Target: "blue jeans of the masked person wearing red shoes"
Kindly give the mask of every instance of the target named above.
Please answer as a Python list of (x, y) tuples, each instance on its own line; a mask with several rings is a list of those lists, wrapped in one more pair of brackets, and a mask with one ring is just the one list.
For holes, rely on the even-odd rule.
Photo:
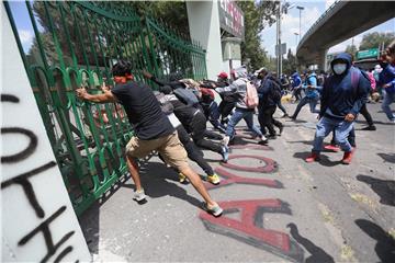
[(341, 150), (351, 151), (352, 148), (347, 137), (349, 136), (352, 128), (353, 122), (321, 117), (317, 124), (313, 144), (313, 152), (319, 153), (321, 151), (325, 137), (327, 137), (332, 130), (335, 130), (335, 138)]

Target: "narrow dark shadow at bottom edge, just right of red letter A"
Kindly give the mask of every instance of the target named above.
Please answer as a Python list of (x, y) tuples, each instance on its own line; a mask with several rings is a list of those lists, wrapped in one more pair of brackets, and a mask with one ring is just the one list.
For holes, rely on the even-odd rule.
[(325, 252), (321, 248), (317, 247), (315, 243), (313, 243), (309, 239), (304, 238), (300, 235), (297, 226), (293, 222), (286, 225), (287, 228), (290, 228), (290, 233), (292, 238), (294, 238), (301, 245), (303, 245), (308, 253), (311, 253), (311, 256), (308, 256), (305, 260), (305, 263), (330, 263), (335, 262), (334, 258)]

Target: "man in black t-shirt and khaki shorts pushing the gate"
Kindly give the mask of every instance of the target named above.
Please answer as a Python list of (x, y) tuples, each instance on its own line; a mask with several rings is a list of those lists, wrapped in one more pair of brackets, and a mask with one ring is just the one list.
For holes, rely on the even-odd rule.
[(78, 89), (77, 96), (93, 103), (119, 102), (126, 112), (128, 121), (135, 130), (135, 136), (126, 145), (126, 162), (136, 186), (134, 199), (143, 202), (146, 198), (134, 158), (144, 158), (151, 151), (158, 151), (165, 161), (182, 172), (205, 201), (204, 208), (214, 216), (221, 216), (223, 209), (214, 202), (204, 187), (200, 176), (189, 167), (185, 149), (167, 116), (160, 110), (159, 102), (151, 89), (139, 82), (127, 81), (131, 75), (131, 64), (119, 61), (112, 69), (115, 87), (103, 90), (102, 94), (89, 94), (84, 89)]

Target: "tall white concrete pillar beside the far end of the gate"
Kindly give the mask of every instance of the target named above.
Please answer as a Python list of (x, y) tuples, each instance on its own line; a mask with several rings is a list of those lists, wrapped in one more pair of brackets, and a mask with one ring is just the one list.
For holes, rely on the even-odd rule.
[(219, 14), (217, 1), (187, 1), (191, 38), (206, 49), (208, 79), (224, 70), (221, 46)]

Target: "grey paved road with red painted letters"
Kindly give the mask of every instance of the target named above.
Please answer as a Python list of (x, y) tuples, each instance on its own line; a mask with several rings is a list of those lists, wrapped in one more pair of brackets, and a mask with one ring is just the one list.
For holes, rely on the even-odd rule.
[[(142, 169), (147, 204), (132, 201), (134, 185), (127, 180), (80, 218), (93, 259), (395, 262), (395, 125), (380, 104), (368, 108), (377, 130), (357, 130), (350, 165), (339, 163), (340, 152), (324, 152), (320, 163), (303, 161), (317, 122), (307, 106), (298, 121), (282, 119), (284, 134), (270, 148), (252, 149), (248, 144), (253, 140), (238, 138), (244, 146), (233, 150), (229, 161), (237, 167), (224, 168), (218, 155), (205, 151), (222, 169), (223, 186), (210, 190), (226, 207), (217, 219), (202, 213), (191, 185), (178, 183), (177, 174), (153, 157)], [(364, 125), (360, 119), (357, 129)], [(238, 135), (246, 135), (244, 125)], [(259, 169), (246, 171), (250, 168)]]

